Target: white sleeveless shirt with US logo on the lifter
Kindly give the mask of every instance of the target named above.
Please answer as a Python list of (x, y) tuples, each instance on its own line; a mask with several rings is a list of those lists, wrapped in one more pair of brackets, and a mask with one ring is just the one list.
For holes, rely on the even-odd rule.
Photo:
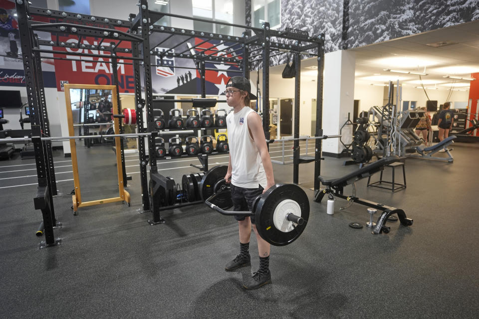
[(240, 112), (231, 112), (226, 117), (233, 168), (231, 183), (244, 188), (257, 188), (259, 184), (264, 188), (266, 174), (256, 144), (248, 130), (248, 115), (251, 112), (254, 111), (245, 106)]

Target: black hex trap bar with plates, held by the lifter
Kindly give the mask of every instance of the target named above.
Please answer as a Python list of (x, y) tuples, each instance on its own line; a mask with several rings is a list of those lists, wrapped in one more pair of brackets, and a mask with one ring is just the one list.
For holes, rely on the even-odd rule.
[(205, 204), (223, 215), (254, 215), (259, 236), (274, 246), (291, 244), (301, 235), (309, 218), (304, 190), (295, 184), (275, 184), (253, 200), (251, 211), (226, 210), (233, 206), (227, 170), (228, 166), (215, 166), (203, 176), (200, 189)]

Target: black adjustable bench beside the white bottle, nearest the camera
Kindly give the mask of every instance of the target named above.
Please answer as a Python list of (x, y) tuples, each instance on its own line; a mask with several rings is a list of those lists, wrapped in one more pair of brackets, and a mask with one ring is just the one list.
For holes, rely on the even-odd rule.
[(347, 175), (344, 175), (339, 178), (335, 179), (324, 179), (323, 176), (318, 176), (318, 179), (321, 183), (326, 186), (326, 188), (319, 189), (318, 192), (315, 194), (314, 200), (316, 202), (321, 202), (324, 195), (332, 194), (334, 197), (339, 197), (348, 200), (349, 202), (355, 202), (364, 206), (376, 208), (377, 210), (382, 211), (383, 213), (379, 216), (376, 226), (374, 227), (372, 233), (373, 234), (380, 234), (383, 231), (385, 233), (389, 233), (390, 227), (386, 227), (386, 221), (388, 217), (392, 214), (397, 214), (399, 217), (399, 221), (403, 226), (410, 226), (413, 224), (413, 220), (406, 217), (406, 213), (404, 210), (386, 206), (384, 204), (376, 203), (367, 199), (359, 198), (354, 195), (346, 196), (344, 195), (344, 186), (349, 184), (354, 184), (356, 181), (369, 177), (372, 174), (381, 171), (384, 169), (384, 166), (389, 165), (396, 161), (404, 160), (404, 158), (400, 158), (397, 156), (391, 156), (387, 158), (382, 158), (381, 160), (377, 160), (368, 164), (367, 166), (363, 166)]

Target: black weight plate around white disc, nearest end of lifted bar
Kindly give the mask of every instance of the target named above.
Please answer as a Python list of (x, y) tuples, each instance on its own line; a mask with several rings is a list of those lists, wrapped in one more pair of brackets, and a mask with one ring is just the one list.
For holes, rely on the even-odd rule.
[[(296, 225), (289, 232), (282, 232), (274, 226), (274, 210), (278, 204), (288, 199), (298, 203), (304, 223)], [(304, 190), (295, 184), (276, 184), (261, 195), (254, 213), (258, 234), (271, 245), (285, 246), (295, 241), (306, 228), (309, 219), (309, 199)]]

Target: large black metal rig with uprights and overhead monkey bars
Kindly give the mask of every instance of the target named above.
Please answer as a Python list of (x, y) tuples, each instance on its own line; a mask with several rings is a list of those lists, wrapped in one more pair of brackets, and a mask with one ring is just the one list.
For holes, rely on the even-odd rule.
[[(317, 77), (317, 112), (316, 112), (316, 133), (315, 137), (322, 135), (322, 90), (323, 90), (323, 67), (324, 67), (324, 34), (309, 37), (307, 32), (295, 29), (286, 29), (285, 31), (272, 30), (269, 23), (264, 23), (261, 28), (251, 26), (226, 23), (220, 21), (211, 21), (206, 19), (192, 18), (171, 13), (163, 13), (149, 10), (147, 0), (139, 0), (138, 14), (130, 14), (128, 20), (112, 19), (93, 15), (76, 14), (59, 10), (50, 10), (46, 8), (33, 7), (28, 1), (16, 0), (17, 18), (20, 30), (21, 54), (24, 63), (25, 83), (28, 95), (28, 104), (30, 106), (30, 118), (32, 127), (32, 142), (35, 150), (38, 193), (34, 198), (35, 209), (41, 209), (44, 227), (46, 246), (52, 246), (57, 243), (53, 236), (53, 227), (56, 225), (54, 216), (52, 195), (56, 194), (56, 183), (53, 167), (53, 157), (51, 155), (51, 142), (41, 140), (43, 137), (49, 137), (49, 123), (46, 110), (45, 94), (43, 89), (41, 58), (40, 53), (66, 54), (64, 51), (55, 50), (55, 47), (83, 48), (90, 51), (98, 51), (98, 54), (82, 52), (68, 52), (68, 55), (77, 55), (80, 57), (101, 57), (107, 59), (105, 63), (113, 65), (114, 85), (118, 86), (118, 76), (116, 74), (117, 65), (132, 64), (135, 81), (135, 104), (137, 114), (138, 134), (150, 133), (148, 135), (148, 157), (146, 156), (146, 146), (143, 138), (138, 140), (138, 153), (140, 161), (140, 179), (142, 193), (143, 211), (158, 211), (150, 207), (147, 165), (151, 170), (156, 168), (156, 157), (154, 152), (154, 135), (156, 133), (153, 121), (153, 89), (151, 67), (152, 57), (159, 56), (160, 59), (166, 56), (175, 58), (193, 59), (200, 73), (201, 96), (206, 97), (206, 71), (205, 63), (212, 61), (221, 61), (231, 65), (236, 65), (242, 75), (249, 78), (250, 62), (261, 61), (262, 64), (262, 105), (263, 105), (263, 130), (266, 139), (269, 139), (269, 63), (270, 52), (280, 52), (283, 54), (291, 52), (295, 56), (296, 77), (295, 77), (295, 121), (294, 121), (294, 183), (298, 182), (299, 166), (299, 89), (300, 89), (300, 61), (301, 54), (317, 56), (318, 77)], [(163, 16), (179, 17), (190, 20), (209, 22), (214, 24), (223, 24), (234, 27), (244, 28), (242, 36), (231, 36), (227, 34), (202, 32), (184, 28), (167, 27), (156, 25)], [(44, 19), (53, 22), (44, 22)], [(118, 29), (128, 28), (126, 31)], [(51, 40), (41, 40), (34, 31), (49, 32)], [(173, 53), (172, 49), (165, 52), (158, 52), (155, 46), (150, 45), (150, 35), (154, 32), (164, 33), (168, 38), (181, 36), (177, 43), (187, 42), (193, 37), (199, 37), (203, 43), (209, 40), (217, 40), (219, 44), (208, 47), (198, 54), (186, 52)], [(252, 35), (252, 32), (255, 34)], [(75, 35), (78, 37), (76, 42), (61, 42), (60, 35)], [(97, 45), (81, 43), (84, 37), (95, 37), (101, 39)], [(187, 37), (185, 39), (185, 37)], [(275, 39), (273, 41), (272, 39)], [(104, 41), (106, 41), (105, 44)], [(291, 43), (292, 41), (292, 43)], [(109, 42), (109, 43), (108, 43)], [(120, 48), (120, 42), (129, 42), (130, 48)], [(180, 43), (180, 44), (181, 44)], [(205, 53), (212, 51), (222, 43), (228, 43), (224, 49), (217, 49), (214, 53)], [(303, 44), (304, 43), (304, 44)], [(161, 43), (160, 43), (161, 44)], [(240, 45), (242, 50), (233, 49)], [(40, 47), (41, 46), (41, 47)], [(45, 49), (44, 47), (51, 47)], [(261, 51), (260, 53), (250, 54), (250, 51)], [(101, 52), (103, 53), (101, 53)], [(310, 53), (315, 51), (315, 53)], [(222, 52), (221, 55), (218, 53)], [(186, 55), (185, 55), (186, 53)], [(217, 56), (214, 56), (216, 54)], [(277, 55), (274, 54), (274, 55)], [(228, 57), (228, 55), (232, 55)], [(250, 58), (259, 57), (260, 59), (250, 61)], [(53, 59), (65, 59), (61, 57), (45, 57)], [(131, 61), (119, 62), (119, 60)], [(144, 89), (141, 87), (141, 76), (143, 73)], [(259, 76), (259, 74), (258, 74)], [(117, 90), (118, 91), (118, 90)], [(120, 107), (120, 106), (119, 106)], [(146, 127), (143, 120), (143, 108), (146, 111)], [(320, 174), (320, 150), (321, 139), (316, 139), (315, 145), (315, 176)], [(124, 162), (124, 155), (122, 154)], [(124, 178), (125, 181), (125, 178)], [(314, 188), (319, 188), (319, 182), (315, 180)], [(154, 213), (153, 221), (162, 221), (159, 214)]]

